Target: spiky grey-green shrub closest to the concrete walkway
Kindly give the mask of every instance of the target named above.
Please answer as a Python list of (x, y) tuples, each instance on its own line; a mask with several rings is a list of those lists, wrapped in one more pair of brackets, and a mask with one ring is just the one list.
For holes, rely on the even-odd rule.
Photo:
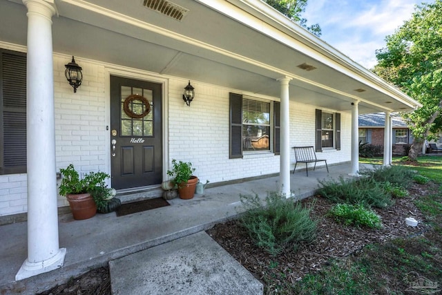
[(242, 195), (247, 209), (241, 218), (242, 226), (258, 247), (271, 255), (285, 248), (297, 249), (300, 242), (313, 242), (316, 238), (316, 220), (310, 218), (309, 208), (300, 202), (286, 199), (278, 193), (269, 193), (262, 202), (258, 195)]

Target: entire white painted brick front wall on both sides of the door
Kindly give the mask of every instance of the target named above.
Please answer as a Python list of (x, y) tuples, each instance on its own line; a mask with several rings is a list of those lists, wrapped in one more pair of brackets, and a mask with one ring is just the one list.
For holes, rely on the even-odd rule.
[[(110, 173), (107, 151), (110, 148), (109, 131), (106, 131), (110, 120), (106, 71), (106, 66), (109, 65), (81, 57), (75, 59), (84, 73), (77, 93), (73, 92), (64, 77), (64, 64), (70, 61), (70, 57), (54, 55), (57, 170), (73, 163), (80, 173)], [(140, 79), (148, 79), (146, 75), (153, 75), (140, 70), (126, 70), (128, 73), (133, 71), (136, 73), (134, 76)], [(162, 79), (167, 79), (169, 86), (164, 94), (164, 105), (167, 107), (164, 120), (166, 126), (169, 126), (164, 135), (164, 155), (169, 154), (169, 163), (172, 159), (192, 162), (196, 168), (195, 174), (202, 182), (222, 182), (278, 173), (280, 157), (273, 153), (244, 153), (242, 159), (229, 159), (229, 92), (241, 91), (192, 81), (196, 97), (189, 107), (182, 100), (182, 91), (187, 80), (173, 77)], [(242, 94), (253, 97), (251, 93)], [(290, 126), (290, 146), (314, 145), (315, 107), (291, 101)], [(349, 161), (350, 128), (351, 114), (341, 113), (341, 150), (325, 150), (320, 158), (327, 159), (330, 164)], [(293, 151), (290, 157), (293, 163)], [(292, 169), (293, 166), (294, 164)], [(164, 167), (165, 179), (168, 168)], [(0, 216), (26, 212), (26, 202), (26, 174), (0, 175)], [(58, 206), (68, 204), (66, 198), (60, 196), (57, 203)]]

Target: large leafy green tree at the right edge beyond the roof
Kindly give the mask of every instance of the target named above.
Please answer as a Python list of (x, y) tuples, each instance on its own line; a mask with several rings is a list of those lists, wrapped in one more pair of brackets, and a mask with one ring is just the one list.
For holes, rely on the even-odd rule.
[(412, 18), (387, 47), (376, 50), (374, 72), (423, 106), (403, 118), (414, 137), (408, 157), (416, 161), (425, 140), (442, 130), (442, 0), (416, 6)]

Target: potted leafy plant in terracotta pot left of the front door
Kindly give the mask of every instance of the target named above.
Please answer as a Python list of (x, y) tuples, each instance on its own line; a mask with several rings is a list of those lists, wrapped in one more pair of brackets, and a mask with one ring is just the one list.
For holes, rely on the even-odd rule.
[(104, 172), (90, 172), (80, 178), (74, 165), (60, 169), (63, 176), (59, 187), (61, 196), (66, 196), (75, 220), (84, 220), (95, 216), (97, 204), (90, 192), (97, 187), (107, 189), (104, 180), (109, 177)]

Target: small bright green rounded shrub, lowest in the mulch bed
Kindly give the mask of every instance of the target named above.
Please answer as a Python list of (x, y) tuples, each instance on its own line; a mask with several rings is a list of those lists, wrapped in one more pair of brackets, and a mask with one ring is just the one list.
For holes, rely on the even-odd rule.
[(336, 220), (345, 225), (356, 225), (370, 228), (380, 228), (382, 225), (379, 217), (372, 209), (365, 208), (362, 204), (336, 204), (329, 211)]

